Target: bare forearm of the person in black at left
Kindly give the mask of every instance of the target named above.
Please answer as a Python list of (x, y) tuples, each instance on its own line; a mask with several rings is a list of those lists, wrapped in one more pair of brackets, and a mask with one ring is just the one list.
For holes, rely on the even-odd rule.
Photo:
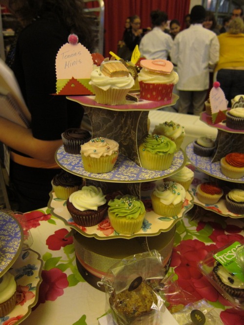
[(55, 152), (62, 140), (42, 141), (32, 136), (32, 130), (0, 117), (0, 142), (32, 158), (55, 163)]

